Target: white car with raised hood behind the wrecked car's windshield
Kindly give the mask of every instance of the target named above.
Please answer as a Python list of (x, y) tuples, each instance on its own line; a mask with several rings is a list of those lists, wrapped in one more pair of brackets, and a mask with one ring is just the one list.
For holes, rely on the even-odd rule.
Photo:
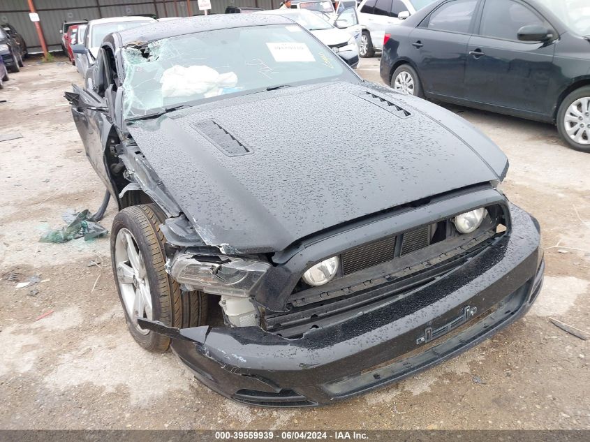
[[(305, 9), (261, 10), (255, 14), (282, 15), (283, 17), (290, 18), (310, 31), (311, 34), (314, 34), (327, 47), (330, 47), (332, 52), (338, 54), (341, 59), (346, 61), (348, 66), (351, 66), (353, 69), (357, 67), (359, 58), (355, 37), (343, 29), (332, 26), (332, 24), (324, 20), (320, 15)], [(344, 22), (341, 22), (341, 24), (344, 25)], [(300, 28), (297, 27), (297, 29)], [(360, 34), (360, 28), (357, 30), (357, 34)]]

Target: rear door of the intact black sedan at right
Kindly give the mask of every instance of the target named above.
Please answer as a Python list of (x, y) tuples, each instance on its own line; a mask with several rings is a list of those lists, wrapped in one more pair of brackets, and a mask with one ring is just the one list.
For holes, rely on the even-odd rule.
[(411, 32), (411, 59), (428, 96), (464, 96), (467, 45), (479, 3), (480, 0), (446, 1)]

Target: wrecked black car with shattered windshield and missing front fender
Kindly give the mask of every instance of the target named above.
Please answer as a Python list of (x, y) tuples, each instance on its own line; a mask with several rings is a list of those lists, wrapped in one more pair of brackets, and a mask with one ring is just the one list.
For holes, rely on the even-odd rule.
[(499, 148), (284, 17), (110, 34), (91, 75), (66, 97), (120, 210), (128, 329), (221, 395), (346, 399), (480, 343), (540, 290), (539, 226), (503, 194)]

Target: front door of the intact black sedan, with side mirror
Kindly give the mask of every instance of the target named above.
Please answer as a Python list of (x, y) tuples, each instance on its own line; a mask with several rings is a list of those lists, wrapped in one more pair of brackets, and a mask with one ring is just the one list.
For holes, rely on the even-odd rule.
[[(469, 101), (524, 112), (550, 112), (554, 103), (547, 103), (547, 88), (555, 75), (556, 40), (519, 41), (519, 29), (531, 24), (552, 28), (526, 3), (485, 0), (478, 32), (469, 40)], [(553, 35), (557, 37), (556, 31)]]

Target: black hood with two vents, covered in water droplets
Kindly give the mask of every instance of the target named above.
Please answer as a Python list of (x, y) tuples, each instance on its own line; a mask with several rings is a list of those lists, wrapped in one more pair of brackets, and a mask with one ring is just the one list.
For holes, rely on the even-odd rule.
[(450, 112), (347, 82), (228, 98), (128, 130), (202, 239), (236, 253), (281, 251), (506, 167)]

